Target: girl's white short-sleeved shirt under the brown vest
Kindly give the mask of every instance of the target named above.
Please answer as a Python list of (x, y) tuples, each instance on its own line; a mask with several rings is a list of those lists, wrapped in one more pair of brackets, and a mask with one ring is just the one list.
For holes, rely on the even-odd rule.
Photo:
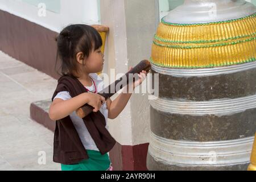
[[(97, 73), (90, 73), (89, 76), (93, 79), (96, 87), (97, 87), (97, 93), (104, 89), (104, 81), (97, 75)], [(92, 84), (92, 86), (85, 86), (86, 89), (88, 89), (90, 92), (95, 92), (95, 86)], [(64, 101), (71, 99), (71, 95), (69, 92), (59, 92), (57, 93), (56, 98), (60, 98)], [(106, 119), (106, 129), (108, 130), (108, 109), (106, 107), (106, 102), (101, 106), (100, 112), (104, 115)], [(69, 115), (71, 118), (71, 121), (73, 122), (73, 125), (76, 128), (77, 133), (79, 134), (79, 137), (82, 141), (82, 144), (86, 148), (86, 150), (96, 150), (100, 151), (94, 140), (89, 134), (88, 129), (86, 128), (84, 121), (76, 114), (76, 111), (74, 111), (72, 114)]]

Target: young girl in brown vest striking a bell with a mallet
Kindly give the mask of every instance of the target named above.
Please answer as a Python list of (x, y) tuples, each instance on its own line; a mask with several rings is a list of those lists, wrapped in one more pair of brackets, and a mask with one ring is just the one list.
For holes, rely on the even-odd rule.
[[(131, 93), (121, 93), (114, 101), (105, 101), (104, 97), (97, 94), (104, 89), (103, 81), (97, 75), (104, 65), (101, 46), (100, 34), (85, 24), (66, 27), (57, 38), (57, 60), (60, 58), (62, 77), (53, 94), (49, 117), (57, 121), (53, 161), (61, 163), (63, 171), (112, 169), (108, 152), (115, 140), (104, 130), (108, 130), (108, 118), (116, 118), (125, 108)], [(141, 72), (139, 80), (130, 86), (135, 89), (146, 75), (145, 71)], [(129, 90), (127, 87), (124, 89)], [(76, 110), (85, 104), (94, 107), (94, 110), (88, 117), (81, 119)], [(100, 128), (102, 123), (104, 129)], [(108, 147), (111, 140), (114, 143)], [(102, 144), (102, 141), (105, 143)]]

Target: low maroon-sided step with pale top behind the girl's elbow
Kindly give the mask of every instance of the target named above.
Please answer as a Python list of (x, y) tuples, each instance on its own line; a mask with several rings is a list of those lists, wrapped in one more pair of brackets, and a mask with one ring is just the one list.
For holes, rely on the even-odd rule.
[(32, 102), (30, 105), (30, 117), (51, 131), (55, 131), (56, 122), (49, 118), (48, 111), (52, 101), (43, 100)]

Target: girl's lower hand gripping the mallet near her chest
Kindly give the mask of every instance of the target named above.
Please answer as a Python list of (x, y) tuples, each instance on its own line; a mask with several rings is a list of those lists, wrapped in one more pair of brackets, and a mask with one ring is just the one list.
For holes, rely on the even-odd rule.
[(102, 104), (105, 103), (105, 98), (96, 93), (85, 93), (88, 96), (87, 104), (94, 107), (93, 112), (101, 109)]

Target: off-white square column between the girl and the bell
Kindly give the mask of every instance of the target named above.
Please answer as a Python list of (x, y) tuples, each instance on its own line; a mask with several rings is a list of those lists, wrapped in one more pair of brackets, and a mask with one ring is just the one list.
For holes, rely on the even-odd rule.
[[(159, 23), (158, 0), (101, 0), (101, 23), (109, 26), (106, 42), (106, 70), (126, 73), (143, 59), (149, 59)], [(145, 94), (133, 94), (125, 110), (109, 130), (118, 143), (136, 145), (149, 142), (150, 111)]]

